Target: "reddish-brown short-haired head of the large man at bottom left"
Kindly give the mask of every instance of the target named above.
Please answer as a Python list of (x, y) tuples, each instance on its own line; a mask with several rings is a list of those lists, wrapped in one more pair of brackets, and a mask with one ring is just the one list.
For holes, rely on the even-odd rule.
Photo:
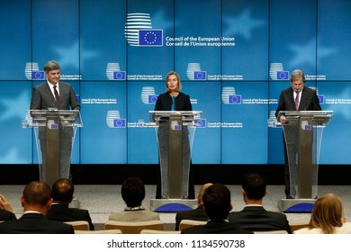
[(51, 191), (48, 184), (41, 181), (32, 181), (24, 187), (21, 197), (24, 211), (39, 211), (46, 215), (51, 202)]

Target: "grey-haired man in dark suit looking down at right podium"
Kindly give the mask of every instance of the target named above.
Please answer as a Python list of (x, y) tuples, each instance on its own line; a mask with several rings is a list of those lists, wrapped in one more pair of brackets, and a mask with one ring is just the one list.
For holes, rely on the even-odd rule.
[[(305, 86), (306, 77), (302, 70), (293, 70), (290, 76), (292, 86), (284, 89), (279, 97), (278, 107), (275, 111), (277, 121), (285, 123), (286, 118), (282, 111), (321, 111), (320, 100), (315, 90)], [(294, 157), (291, 157), (294, 159)], [(293, 199), (296, 193), (295, 182), (291, 181), (289, 172), (288, 153), (284, 139), (284, 181), (285, 181), (285, 195), (287, 199)], [(294, 177), (294, 175), (293, 175)], [(291, 188), (292, 187), (292, 188)]]

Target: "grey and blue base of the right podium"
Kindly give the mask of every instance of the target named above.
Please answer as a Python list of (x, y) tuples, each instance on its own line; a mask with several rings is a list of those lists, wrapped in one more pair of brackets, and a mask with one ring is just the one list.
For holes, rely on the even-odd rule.
[(278, 201), (278, 208), (283, 212), (311, 212), (315, 199), (282, 199)]

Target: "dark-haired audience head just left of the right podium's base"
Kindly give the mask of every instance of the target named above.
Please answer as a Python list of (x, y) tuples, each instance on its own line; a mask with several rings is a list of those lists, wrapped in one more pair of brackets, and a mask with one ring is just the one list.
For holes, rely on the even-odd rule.
[(242, 193), (245, 202), (262, 202), (267, 193), (265, 177), (258, 173), (246, 175), (242, 182)]

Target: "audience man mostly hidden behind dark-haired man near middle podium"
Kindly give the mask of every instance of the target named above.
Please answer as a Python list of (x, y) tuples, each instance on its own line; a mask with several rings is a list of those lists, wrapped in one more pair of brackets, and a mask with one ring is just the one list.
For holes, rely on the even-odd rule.
[(189, 211), (178, 211), (175, 214), (175, 230), (179, 230), (179, 224), (182, 220), (209, 220), (206, 213), (203, 211), (202, 195), (210, 185), (212, 184), (202, 184), (200, 192), (196, 195), (196, 199), (199, 204), (196, 209)]

